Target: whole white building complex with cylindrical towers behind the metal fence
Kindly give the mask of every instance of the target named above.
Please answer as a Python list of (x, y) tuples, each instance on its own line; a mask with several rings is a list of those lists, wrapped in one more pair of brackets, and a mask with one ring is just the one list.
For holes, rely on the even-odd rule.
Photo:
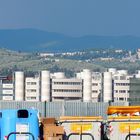
[(130, 79), (134, 77), (139, 79), (140, 71), (129, 75), (126, 70), (114, 68), (103, 73), (84, 69), (71, 78), (63, 72), (44, 70), (34, 77), (26, 77), (23, 71), (16, 71), (10, 82), (1, 79), (0, 97), (4, 101), (127, 102)]

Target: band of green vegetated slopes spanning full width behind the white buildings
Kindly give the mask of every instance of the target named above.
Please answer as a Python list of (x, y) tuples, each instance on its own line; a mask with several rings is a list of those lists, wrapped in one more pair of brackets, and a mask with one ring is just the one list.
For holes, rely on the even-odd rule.
[(28, 75), (33, 75), (41, 70), (50, 70), (51, 72), (65, 72), (68, 77), (71, 77), (74, 76), (75, 72), (82, 71), (83, 69), (103, 72), (111, 67), (127, 69), (129, 73), (133, 73), (136, 70), (140, 70), (140, 61), (133, 63), (130, 61), (120, 61), (119, 59), (108, 61), (95, 59), (92, 62), (86, 62), (60, 56), (42, 58), (37, 53), (21, 53), (0, 49), (1, 75), (10, 75), (18, 70), (22, 70)]

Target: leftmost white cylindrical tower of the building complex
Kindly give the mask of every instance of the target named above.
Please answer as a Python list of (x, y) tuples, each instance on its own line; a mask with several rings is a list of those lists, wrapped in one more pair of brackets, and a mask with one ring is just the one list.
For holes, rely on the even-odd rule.
[(24, 72), (15, 72), (15, 100), (24, 100)]

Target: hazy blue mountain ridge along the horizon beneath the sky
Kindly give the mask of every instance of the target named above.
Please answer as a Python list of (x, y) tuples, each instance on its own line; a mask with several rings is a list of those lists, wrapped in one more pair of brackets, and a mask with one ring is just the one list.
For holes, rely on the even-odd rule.
[(0, 30), (0, 47), (22, 52), (66, 52), (91, 48), (116, 48), (132, 50), (140, 47), (140, 37), (134, 36), (83, 36), (36, 29)]

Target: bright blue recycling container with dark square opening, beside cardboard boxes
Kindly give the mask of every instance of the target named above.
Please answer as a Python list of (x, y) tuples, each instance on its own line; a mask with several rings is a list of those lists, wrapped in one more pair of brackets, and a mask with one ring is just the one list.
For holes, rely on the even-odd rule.
[[(37, 140), (39, 137), (39, 121), (37, 110), (8, 109), (1, 110), (0, 140)], [(19, 134), (22, 133), (22, 134)], [(9, 136), (8, 136), (9, 135)]]

